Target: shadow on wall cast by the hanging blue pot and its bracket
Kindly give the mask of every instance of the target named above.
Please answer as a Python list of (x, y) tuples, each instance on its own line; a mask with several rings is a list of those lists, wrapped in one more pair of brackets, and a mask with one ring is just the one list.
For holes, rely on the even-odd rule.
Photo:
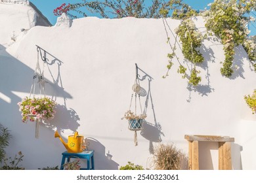
[(150, 101), (153, 115), (154, 115), (154, 124), (145, 120), (143, 122), (142, 130), (140, 131), (140, 135), (142, 135), (142, 137), (144, 137), (145, 139), (147, 139), (149, 141), (149, 152), (150, 152), (150, 154), (154, 154), (153, 142), (161, 142), (161, 135), (164, 135), (164, 134), (163, 134), (163, 132), (161, 132), (160, 123), (158, 123), (156, 120), (156, 112), (154, 109), (154, 103), (153, 103), (152, 94), (151, 94), (151, 90), (150, 90), (151, 89), (150, 83), (152, 82), (153, 78), (150, 75), (148, 75), (147, 73), (145, 73), (144, 71), (142, 71), (142, 69), (140, 69), (139, 67), (138, 67), (138, 70), (140, 71), (140, 73), (139, 73), (140, 81), (146, 80), (146, 78), (148, 78), (148, 92), (146, 92), (146, 90), (144, 90), (144, 88), (140, 89), (140, 92), (139, 92), (139, 93), (143, 93), (143, 95), (142, 95), (143, 97), (146, 96), (146, 102), (145, 102), (143, 114), (146, 114), (147, 109), (148, 109), (148, 102)]

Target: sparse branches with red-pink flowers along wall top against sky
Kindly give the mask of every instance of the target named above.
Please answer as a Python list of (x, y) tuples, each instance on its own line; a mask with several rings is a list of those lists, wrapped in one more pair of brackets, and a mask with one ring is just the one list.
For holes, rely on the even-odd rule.
[(98, 14), (102, 18), (161, 18), (169, 16), (169, 2), (152, 0), (149, 7), (144, 5), (145, 0), (105, 0), (86, 1), (68, 5), (65, 10), (71, 18), (77, 18), (72, 12), (88, 16), (89, 13)]

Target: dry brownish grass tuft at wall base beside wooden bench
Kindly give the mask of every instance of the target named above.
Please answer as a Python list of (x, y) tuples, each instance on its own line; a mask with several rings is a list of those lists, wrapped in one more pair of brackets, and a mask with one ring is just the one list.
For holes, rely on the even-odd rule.
[(154, 148), (154, 169), (179, 170), (181, 169), (182, 152), (174, 144), (158, 144)]

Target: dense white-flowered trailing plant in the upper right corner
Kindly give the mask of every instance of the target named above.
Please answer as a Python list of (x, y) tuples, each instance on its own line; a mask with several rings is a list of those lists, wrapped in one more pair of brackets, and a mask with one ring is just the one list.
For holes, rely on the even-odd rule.
[(247, 52), (249, 61), (256, 71), (255, 44), (248, 39), (249, 29), (247, 24), (255, 21), (250, 16), (245, 16), (251, 10), (255, 10), (255, 0), (215, 0), (211, 8), (203, 13), (205, 17), (205, 27), (212, 31), (221, 39), (224, 45), (224, 62), (221, 68), (221, 74), (229, 77), (234, 73), (234, 48), (242, 44)]

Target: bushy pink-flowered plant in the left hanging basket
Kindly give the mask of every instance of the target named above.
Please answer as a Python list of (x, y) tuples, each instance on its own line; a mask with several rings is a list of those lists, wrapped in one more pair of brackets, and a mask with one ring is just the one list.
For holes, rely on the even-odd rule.
[(22, 122), (26, 122), (29, 118), (33, 122), (35, 119), (49, 120), (54, 118), (56, 111), (56, 102), (49, 97), (30, 99), (25, 97), (18, 103), (20, 111), (22, 112)]

